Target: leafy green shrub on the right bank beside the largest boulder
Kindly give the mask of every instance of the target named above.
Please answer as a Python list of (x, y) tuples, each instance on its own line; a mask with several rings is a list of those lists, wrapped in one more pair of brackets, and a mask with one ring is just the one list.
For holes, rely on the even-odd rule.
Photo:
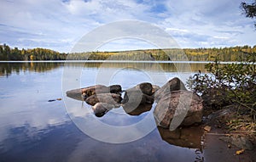
[(256, 112), (256, 53), (245, 53), (241, 63), (220, 64), (218, 57), (201, 71), (189, 77), (189, 89), (201, 94), (206, 107), (222, 109), (228, 104), (247, 108), (243, 112)]

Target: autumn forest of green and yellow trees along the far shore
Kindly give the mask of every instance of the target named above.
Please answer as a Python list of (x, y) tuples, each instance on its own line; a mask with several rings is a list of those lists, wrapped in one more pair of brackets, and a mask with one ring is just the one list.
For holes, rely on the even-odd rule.
[(0, 60), (161, 60), (161, 61), (243, 61), (247, 54), (256, 53), (256, 45), (236, 47), (145, 49), (119, 52), (59, 53), (45, 48), (19, 49), (0, 45)]

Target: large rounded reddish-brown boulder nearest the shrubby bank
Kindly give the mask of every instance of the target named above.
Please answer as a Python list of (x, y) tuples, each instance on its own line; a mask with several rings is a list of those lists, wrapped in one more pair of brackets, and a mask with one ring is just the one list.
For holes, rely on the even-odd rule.
[[(160, 90), (159, 90), (160, 91)], [(189, 91), (174, 91), (162, 97), (154, 109), (154, 119), (158, 126), (168, 128), (172, 121), (171, 130), (177, 126), (190, 126), (201, 122), (202, 100)]]

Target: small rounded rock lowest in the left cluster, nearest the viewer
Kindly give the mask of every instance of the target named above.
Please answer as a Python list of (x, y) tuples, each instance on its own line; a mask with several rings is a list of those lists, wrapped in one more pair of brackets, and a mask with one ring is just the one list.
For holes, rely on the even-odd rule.
[(92, 106), (92, 110), (94, 114), (97, 117), (102, 117), (105, 115), (110, 109), (113, 109), (115, 107), (114, 104), (108, 104), (108, 103), (96, 103), (94, 106)]

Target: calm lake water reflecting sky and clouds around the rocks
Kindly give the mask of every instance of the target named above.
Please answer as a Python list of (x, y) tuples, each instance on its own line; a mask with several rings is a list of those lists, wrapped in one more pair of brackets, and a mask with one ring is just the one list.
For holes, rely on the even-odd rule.
[[(63, 75), (65, 68), (81, 70), (79, 77), (73, 73), (68, 74), (68, 81), (78, 82), (72, 87), (107, 83), (119, 84), (126, 89), (143, 81), (162, 86), (174, 76), (182, 77), (185, 81), (191, 71), (193, 73), (204, 68), (204, 64), (194, 63), (189, 70), (187, 65), (69, 63), (67, 67), (64, 63), (0, 63), (0, 161), (201, 159), (201, 134), (197, 128), (173, 134), (155, 126), (145, 137), (125, 143), (101, 142), (88, 136), (79, 126), (87, 128), (84, 121), (92, 116), (90, 107), (81, 101), (66, 98), (65, 91), (69, 87), (62, 87), (65, 86), (67, 77)], [(48, 102), (56, 98), (62, 100)], [(70, 107), (70, 103), (73, 106)], [(130, 126), (143, 120), (148, 114), (150, 118), (153, 110), (154, 106), (141, 115), (128, 115), (124, 109), (114, 109), (96, 120), (109, 126)], [(148, 123), (150, 124), (152, 125)], [(90, 125), (90, 129), (99, 128)], [(129, 133), (131, 132), (127, 132)], [(180, 133), (185, 138), (177, 137)]]

